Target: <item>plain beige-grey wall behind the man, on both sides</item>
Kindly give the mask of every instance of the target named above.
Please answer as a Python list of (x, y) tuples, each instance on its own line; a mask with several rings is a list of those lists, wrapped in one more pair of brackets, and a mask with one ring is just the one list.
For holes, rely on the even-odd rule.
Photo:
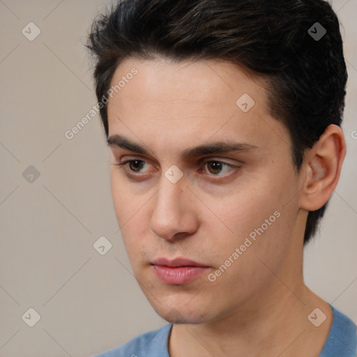
[[(96, 105), (82, 43), (103, 3), (0, 0), (3, 357), (91, 356), (166, 324), (137, 286), (121, 243), (98, 115), (65, 137)], [(305, 279), (357, 322), (357, 1), (333, 8), (349, 70), (348, 153), (321, 233), (305, 250)], [(22, 34), (35, 33), (29, 22), (41, 31), (32, 41)], [(93, 248), (100, 236), (112, 243), (105, 255)], [(33, 327), (25, 323), (35, 319), (30, 307), (40, 314)]]

